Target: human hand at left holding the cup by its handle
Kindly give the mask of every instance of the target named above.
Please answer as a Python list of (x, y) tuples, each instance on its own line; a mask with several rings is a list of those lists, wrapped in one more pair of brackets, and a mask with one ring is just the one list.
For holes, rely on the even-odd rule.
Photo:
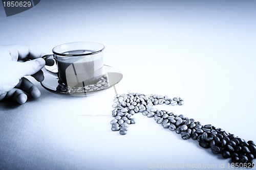
[[(44, 60), (44, 53), (26, 45), (0, 45), (0, 101), (11, 99), (19, 104), (41, 95), (38, 87), (24, 76), (32, 76), (38, 82), (44, 80), (42, 67), (53, 65), (53, 60)], [(26, 92), (26, 93), (25, 93)]]

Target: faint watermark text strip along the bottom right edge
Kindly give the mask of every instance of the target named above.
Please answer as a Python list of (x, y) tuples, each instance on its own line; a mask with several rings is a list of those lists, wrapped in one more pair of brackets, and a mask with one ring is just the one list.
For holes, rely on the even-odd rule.
[(150, 169), (164, 169), (164, 168), (191, 168), (191, 169), (223, 169), (223, 168), (253, 168), (255, 163), (220, 163), (220, 164), (199, 164), (199, 163), (148, 163), (148, 168)]

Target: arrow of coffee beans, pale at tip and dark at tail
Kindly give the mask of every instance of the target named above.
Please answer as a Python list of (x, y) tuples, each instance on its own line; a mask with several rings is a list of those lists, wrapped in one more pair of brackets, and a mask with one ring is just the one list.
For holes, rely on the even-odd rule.
[(125, 135), (129, 125), (136, 123), (133, 115), (141, 112), (147, 117), (154, 117), (157, 124), (161, 124), (163, 128), (181, 134), (182, 139), (191, 137), (193, 140), (198, 140), (201, 147), (210, 148), (212, 153), (222, 154), (223, 158), (231, 157), (233, 163), (242, 163), (243, 167), (248, 167), (250, 164), (251, 167), (255, 166), (252, 162), (256, 157), (256, 146), (253, 141), (246, 142), (221, 128), (209, 124), (201, 125), (193, 118), (184, 117), (182, 114), (174, 115), (172, 112), (157, 110), (153, 107), (161, 104), (183, 105), (184, 101), (181, 98), (172, 99), (167, 95), (117, 94), (112, 105), (115, 108), (112, 116), (115, 118), (111, 120), (111, 130)]

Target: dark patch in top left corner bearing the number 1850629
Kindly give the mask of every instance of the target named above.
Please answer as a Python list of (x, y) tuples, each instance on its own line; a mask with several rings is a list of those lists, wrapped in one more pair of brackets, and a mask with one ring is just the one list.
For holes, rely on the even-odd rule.
[(40, 0), (2, 0), (6, 16), (24, 12), (37, 5)]

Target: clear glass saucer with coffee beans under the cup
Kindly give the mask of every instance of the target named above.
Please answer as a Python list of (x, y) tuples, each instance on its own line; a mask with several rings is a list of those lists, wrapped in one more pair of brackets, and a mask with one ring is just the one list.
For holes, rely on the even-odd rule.
[[(104, 65), (103, 74), (100, 80), (96, 84), (91, 84), (84, 87), (69, 87), (65, 84), (62, 84), (56, 76), (49, 74), (48, 71), (44, 71), (45, 79), (41, 82), (41, 86), (47, 89), (50, 92), (64, 95), (72, 96), (86, 96), (102, 90), (108, 89), (119, 83), (123, 75), (121, 72), (111, 66)], [(57, 72), (57, 68), (52, 69), (52, 72)]]

